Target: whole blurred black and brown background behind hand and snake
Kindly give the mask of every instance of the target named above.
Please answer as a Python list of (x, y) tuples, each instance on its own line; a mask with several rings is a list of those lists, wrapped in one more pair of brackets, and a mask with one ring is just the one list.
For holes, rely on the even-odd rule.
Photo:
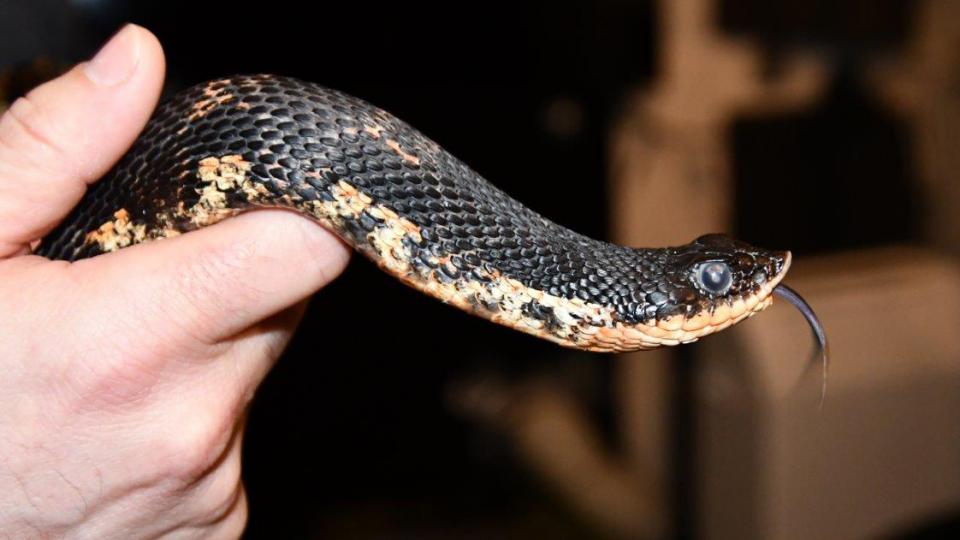
[(0, 0), (0, 110), (124, 21), (163, 42), (168, 94), (297, 76), (590, 236), (792, 249), (832, 341), (821, 410), (781, 305), (596, 356), (358, 259), (250, 411), (250, 538), (960, 533), (960, 1)]

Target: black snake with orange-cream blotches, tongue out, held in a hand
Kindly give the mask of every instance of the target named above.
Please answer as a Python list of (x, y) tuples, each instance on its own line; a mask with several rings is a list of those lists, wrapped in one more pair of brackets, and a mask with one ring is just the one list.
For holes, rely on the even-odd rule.
[(401, 282), (566, 347), (690, 343), (776, 294), (825, 351), (813, 310), (781, 283), (789, 251), (722, 234), (662, 248), (586, 237), (385, 110), (275, 75), (212, 80), (166, 101), (35, 253), (75, 261), (258, 208), (299, 212)]

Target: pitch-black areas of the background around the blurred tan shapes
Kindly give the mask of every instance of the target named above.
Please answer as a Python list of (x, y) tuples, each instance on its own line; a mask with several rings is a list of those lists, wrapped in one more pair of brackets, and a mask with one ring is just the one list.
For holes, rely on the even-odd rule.
[[(745, 240), (808, 254), (917, 238), (904, 128), (854, 76), (871, 55), (902, 46), (911, 5), (721, 2), (721, 27), (760, 40), (771, 73), (799, 47), (826, 50), (839, 66), (813, 114), (730, 126), (735, 232)], [(78, 61), (134, 21), (165, 47), (167, 92), (249, 72), (345, 90), (595, 237), (607, 230), (608, 129), (624, 98), (657, 76), (655, 5), (643, 1), (0, 1), (0, 17), (0, 68), (38, 56)], [(549, 121), (558, 100), (582, 111), (572, 129)], [(875, 158), (867, 171), (863, 155)], [(503, 439), (457, 415), (450, 393), (477, 373), (520, 380), (546, 371), (569, 380), (609, 426), (609, 369), (608, 357), (468, 317), (357, 258), (313, 300), (250, 411), (248, 536), (594, 537)], [(678, 411), (678, 440), (692, 443)], [(677, 492), (682, 517), (690, 494)]]

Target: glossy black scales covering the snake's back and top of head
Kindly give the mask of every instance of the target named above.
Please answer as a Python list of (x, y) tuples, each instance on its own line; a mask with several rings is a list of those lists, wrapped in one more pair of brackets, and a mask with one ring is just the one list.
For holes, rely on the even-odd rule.
[[(331, 186), (343, 180), (420, 227), (423, 241), (408, 247), (418, 268), (438, 279), (478, 279), (485, 274), (473, 270), (493, 269), (530, 288), (609, 307), (625, 323), (692, 315), (750, 294), (763, 281), (755, 277), (758, 271), (773, 276), (783, 264), (780, 252), (726, 237), (662, 249), (586, 238), (510, 198), (389, 113), (334, 90), (272, 76), (197, 86), (160, 107), (128, 154), (38, 253), (67, 260), (96, 255), (96, 244), (84, 245), (86, 234), (121, 208), (148, 230), (161, 227), (157, 216), (164, 209), (199, 200), (200, 160), (230, 154), (249, 162), (248, 176), (269, 191), (257, 204), (289, 206), (284, 195), (295, 203), (331, 200)], [(369, 216), (347, 221), (336, 232), (355, 243), (378, 225)], [(174, 225), (196, 228), (188, 220)], [(435, 270), (429, 255), (456, 262)], [(758, 266), (759, 257), (765, 261)], [(718, 300), (698, 288), (692, 269), (710, 260), (729, 265), (736, 295)], [(526, 309), (557, 324), (549, 308)]]

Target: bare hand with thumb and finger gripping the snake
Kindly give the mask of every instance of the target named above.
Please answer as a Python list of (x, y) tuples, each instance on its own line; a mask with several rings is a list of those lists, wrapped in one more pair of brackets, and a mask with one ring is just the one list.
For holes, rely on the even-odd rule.
[(283, 211), (73, 264), (30, 255), (143, 128), (163, 73), (127, 26), (0, 118), (0, 538), (239, 536), (244, 411), (349, 258)]

